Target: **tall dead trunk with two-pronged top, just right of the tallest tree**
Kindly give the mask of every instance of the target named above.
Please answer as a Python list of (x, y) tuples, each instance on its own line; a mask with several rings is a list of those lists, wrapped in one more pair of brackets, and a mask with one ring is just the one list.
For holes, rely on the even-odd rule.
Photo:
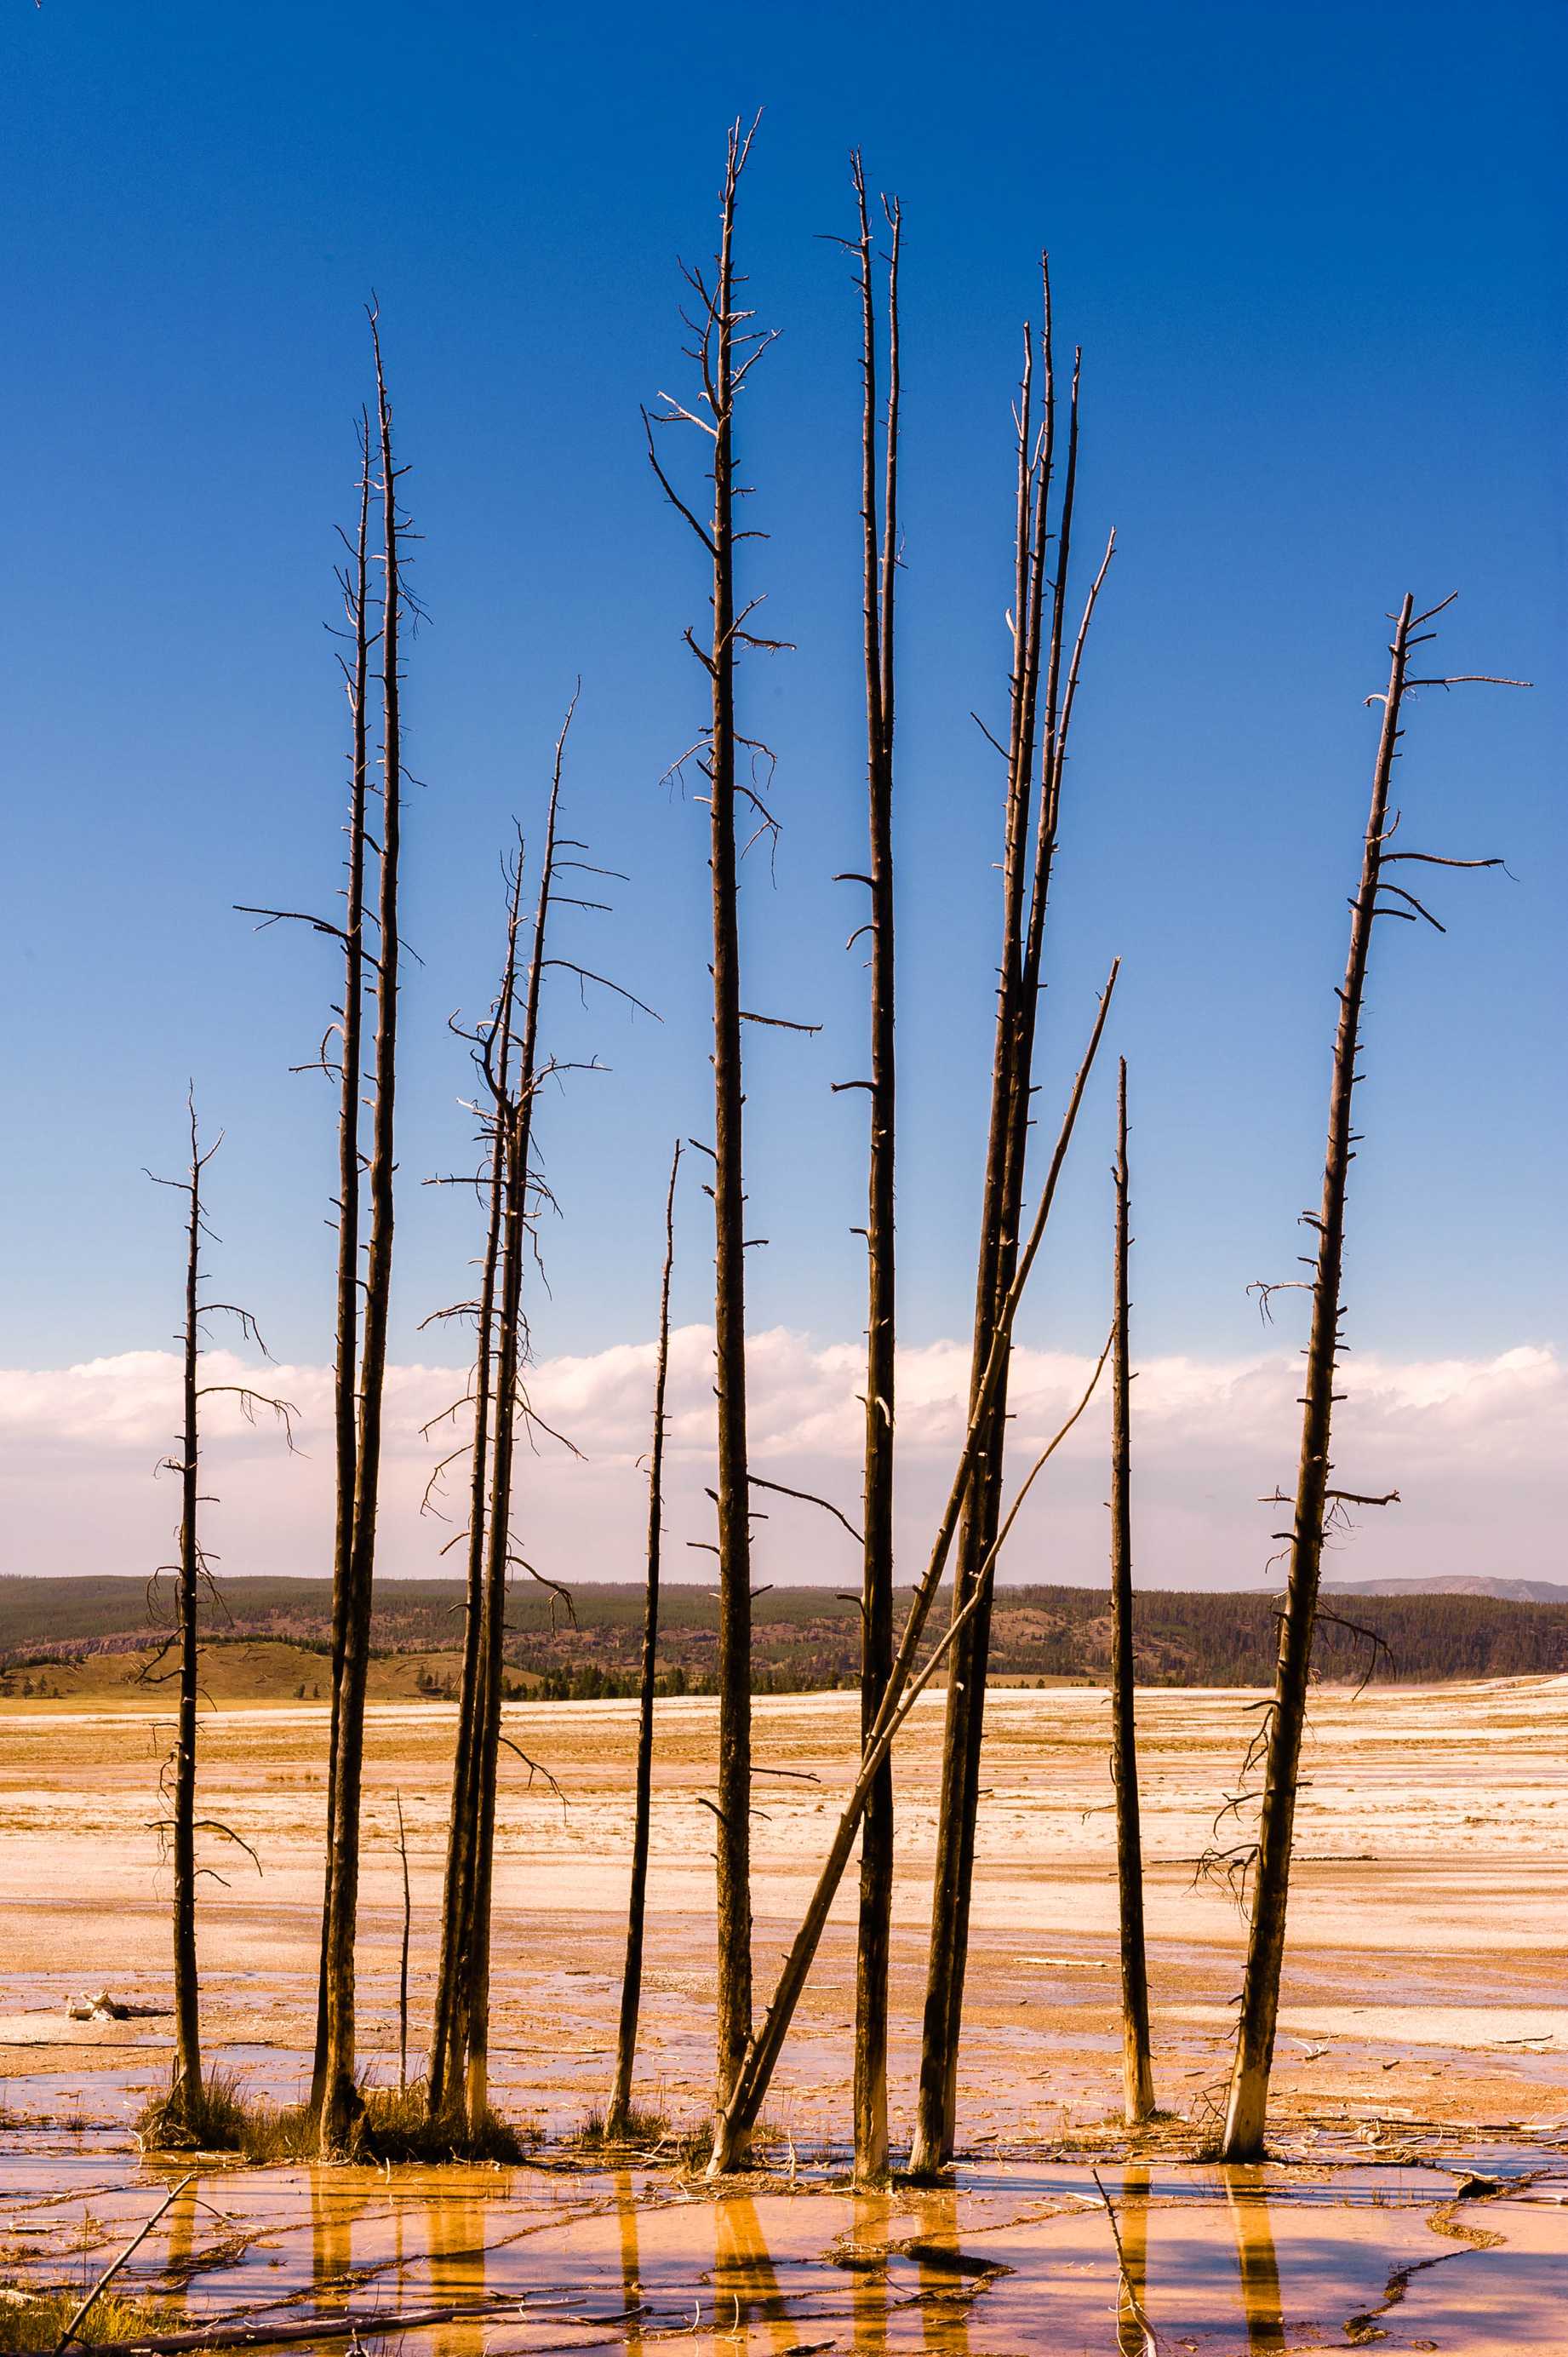
[[(861, 521), (865, 566), (865, 778), (870, 801), (870, 1174), (865, 1209), (865, 1485), (861, 1567), (861, 1744), (870, 1742), (894, 1666), (894, 582), (898, 566), (898, 205), (887, 205), (887, 417), (877, 401), (877, 302), (865, 172), (861, 214)], [(877, 438), (882, 500), (877, 502)], [(879, 514), (877, 514), (879, 504)], [(856, 1940), (856, 2178), (887, 2176), (887, 1968), (894, 1907), (894, 1763), (877, 1770), (861, 1827)]]

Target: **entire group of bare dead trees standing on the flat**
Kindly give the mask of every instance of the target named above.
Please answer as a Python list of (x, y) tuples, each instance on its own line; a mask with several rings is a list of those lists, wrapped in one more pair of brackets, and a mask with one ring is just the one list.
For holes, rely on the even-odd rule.
[[(1132, 1235), (1129, 1235), (1129, 1120), (1127, 1063), (1120, 1065), (1113, 1188), (1108, 1195), (1111, 1329), (1094, 1379), (1063, 1428), (1040, 1457), (1012, 1478), (1007, 1461), (1007, 1381), (1014, 1325), (1042, 1252), (1061, 1171), (1073, 1146), (1089, 1077), (1113, 1014), (1118, 966), (1089, 1023), (1054, 1148), (1040, 1160), (1037, 1049), (1045, 971), (1052, 936), (1052, 882), (1068, 794), (1068, 750), (1080, 674), (1096, 603), (1111, 570), (1115, 535), (1075, 566), (1075, 497), (1080, 445), (1080, 356), (1063, 365), (1052, 323), (1052, 280), (1042, 266), (1040, 318), (1023, 330), (1014, 405), (1014, 556), (1009, 582), (1009, 681), (997, 726), (981, 721), (988, 759), (1000, 778), (1000, 943), (995, 969), (995, 1044), (990, 1117), (981, 1162), (981, 1226), (974, 1285), (967, 1428), (955, 1457), (946, 1504), (913, 1582), (908, 1610), (894, 1607), (894, 1468), (896, 1468), (896, 610), (901, 577), (898, 441), (901, 441), (901, 210), (872, 203), (861, 160), (851, 167), (854, 214), (842, 240), (858, 292), (861, 408), (861, 556), (863, 556), (863, 672), (865, 672), (865, 867), (844, 877), (865, 893), (851, 945), (868, 943), (868, 1068), (835, 1082), (865, 1096), (868, 1183), (865, 1223), (865, 1428), (861, 1530), (828, 1499), (806, 1497), (755, 1471), (747, 1447), (745, 1398), (745, 1072), (747, 1023), (795, 1025), (759, 1016), (745, 1004), (740, 877), (757, 837), (776, 832), (764, 787), (769, 754), (745, 709), (745, 658), (778, 651), (757, 627), (762, 596), (752, 585), (752, 544), (762, 537), (738, 523), (745, 481), (743, 394), (764, 358), (771, 332), (757, 325), (740, 269), (740, 193), (752, 134), (729, 137), (712, 262), (686, 269), (686, 346), (693, 382), (684, 398), (663, 396), (644, 412), (648, 462), (663, 497), (698, 542), (707, 589), (707, 622), (686, 629), (686, 646), (705, 672), (705, 714), (689, 759), (705, 780), (712, 882), (712, 1138), (691, 1148), (705, 1169), (714, 1214), (714, 1395), (717, 1395), (717, 1582), (719, 1582), (719, 1730), (717, 1730), (717, 2008), (714, 2008), (714, 2131), (710, 2171), (736, 2168), (747, 2157), (771, 2074), (811, 1970), (830, 1904), (858, 1846), (858, 1942), (854, 2025), (854, 2157), (856, 2173), (875, 2183), (889, 2173), (889, 1912), (894, 1879), (891, 1749), (917, 1697), (946, 1683), (941, 1803), (931, 1893), (931, 1940), (922, 2015), (915, 2138), (908, 2164), (917, 2176), (941, 2171), (955, 2150), (957, 2069), (962, 2046), (964, 1966), (981, 1810), (981, 1747), (986, 1732), (986, 1673), (990, 1600), (1012, 1525), (1049, 1457), (1089, 1402), (1111, 1365), (1111, 1598), (1113, 1709), (1108, 1768), (1115, 1787), (1125, 2117), (1129, 2126), (1153, 2112), (1148, 1973), (1144, 1959), (1144, 1867), (1139, 1841), (1134, 1648), (1132, 1648)], [(342, 1002), (318, 1065), (337, 1084), (337, 1365), (335, 1365), (335, 1567), (332, 1567), (332, 1709), (325, 1791), (325, 1890), (321, 1919), (318, 2034), (311, 2112), (323, 2152), (351, 2152), (365, 2140), (356, 2069), (354, 1935), (361, 1857), (361, 1784), (365, 1744), (365, 1666), (375, 1577), (377, 1471), (387, 1318), (394, 1244), (394, 1108), (398, 1054), (398, 837), (401, 837), (401, 643), (413, 613), (403, 575), (406, 516), (394, 460), (391, 401), (373, 328), (375, 405), (361, 420), (358, 526), (347, 540), (344, 684), (349, 705), (349, 825), (347, 877), (337, 915), (259, 910), (271, 924), (304, 922), (342, 952)], [(698, 481), (670, 453), (665, 429), (696, 431), (703, 455)], [(1330, 1127), (1323, 1202), (1306, 1214), (1313, 1233), (1309, 1277), (1311, 1339), (1302, 1459), (1285, 1534), (1290, 1582), (1280, 1612), (1276, 1692), (1266, 1706), (1247, 1768), (1257, 1787), (1228, 1803), (1240, 1817), (1257, 1805), (1254, 1838), (1219, 1857), (1245, 1893), (1250, 1947), (1236, 2074), (1224, 2124), (1228, 2159), (1261, 2152), (1273, 2025), (1285, 1940), (1292, 1820), (1299, 1787), (1302, 1730), (1309, 1699), (1318, 1567), (1325, 1530), (1351, 1504), (1391, 1504), (1394, 1494), (1351, 1492), (1332, 1480), (1330, 1428), (1342, 1334), (1342, 1247), (1346, 1178), (1353, 1160), (1351, 1091), (1358, 1077), (1368, 962), (1379, 917), (1434, 922), (1398, 863), (1490, 865), (1438, 860), (1396, 846), (1391, 811), (1394, 761), (1422, 625), (1405, 599), (1382, 695), (1382, 735), (1375, 761), (1363, 870), (1351, 898), (1351, 948), (1337, 992)], [(1441, 681), (1450, 686), (1452, 681)], [(373, 707), (380, 702), (380, 733)], [(573, 700), (575, 702), (575, 700)], [(561, 905), (597, 905), (561, 889), (568, 870), (594, 872), (582, 844), (559, 830), (566, 728), (556, 742), (542, 841), (535, 858), (519, 837), (507, 865), (505, 950), (495, 999), (465, 1032), (476, 1072), (479, 1167), (460, 1181), (483, 1214), (472, 1299), (443, 1310), (474, 1332), (472, 1381), (453, 1414), (469, 1419), (469, 1438), (446, 1466), (465, 1466), (467, 1520), (453, 1537), (465, 1563), (465, 1650), (453, 1754), (453, 1798), (439, 1928), (439, 1966), (429, 2022), (424, 2093), (434, 2119), (448, 2121), (455, 2143), (479, 2138), (488, 2119), (490, 2015), (490, 1900), (495, 1876), (498, 1775), (509, 1737), (502, 1730), (502, 1631), (507, 1582), (514, 1570), (538, 1577), (514, 1539), (516, 1442), (533, 1421), (526, 1398), (526, 1285), (531, 1240), (549, 1200), (533, 1153), (533, 1115), (542, 1082), (564, 1070), (542, 1044), (542, 985), (552, 969), (580, 983), (604, 976), (561, 957), (549, 936)], [(526, 882), (528, 879), (528, 882)], [(531, 900), (531, 915), (528, 915)], [(615, 990), (618, 985), (608, 983)], [(625, 995), (625, 992), (622, 992)], [(658, 1657), (658, 1584), (663, 1541), (663, 1447), (670, 1346), (670, 1275), (677, 1237), (681, 1146), (665, 1181), (665, 1263), (660, 1287), (653, 1445), (648, 1454), (646, 1629), (637, 1739), (632, 1897), (622, 1980), (620, 2039), (606, 2131), (622, 2135), (632, 2119), (641, 1942), (646, 1916), (648, 1801), (653, 1761), (653, 1692)], [(203, 1296), (198, 1254), (203, 1235), (205, 1157), (191, 1127), (189, 1273), (186, 1273), (186, 1424), (177, 1468), (186, 1504), (179, 1551), (182, 1714), (172, 1772), (170, 1841), (174, 1857), (174, 1949), (179, 1980), (179, 2084), (196, 2098), (200, 2053), (196, 2029), (193, 1836), (196, 1815), (196, 1589), (203, 1556), (196, 1537), (198, 1499), (198, 1332)], [(250, 1402), (248, 1402), (250, 1405)], [(266, 1402), (288, 1414), (285, 1402)], [(785, 1494), (804, 1508), (837, 1516), (861, 1549), (861, 1749), (811, 1904), (783, 1970), (757, 2011), (752, 1987), (752, 1520), (757, 1492)], [(950, 1579), (941, 1633), (938, 1593)], [(516, 1747), (512, 1747), (516, 1749)], [(528, 1763), (533, 1770), (533, 1763)], [(1245, 1780), (1243, 1780), (1245, 1782)]]

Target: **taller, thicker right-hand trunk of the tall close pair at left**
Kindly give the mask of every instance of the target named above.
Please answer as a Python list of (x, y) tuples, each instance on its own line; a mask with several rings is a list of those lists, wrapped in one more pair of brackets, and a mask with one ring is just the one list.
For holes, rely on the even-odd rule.
[(375, 318), (375, 398), (382, 462), (382, 872), (380, 957), (375, 981), (375, 1113), (370, 1136), (370, 1252), (361, 1336), (354, 1525), (337, 1673), (337, 1756), (332, 1761), (332, 1853), (328, 1871), (328, 2053), (321, 2098), (321, 2147), (342, 2152), (361, 2114), (354, 2084), (354, 1933), (358, 1921), (358, 1813), (365, 1739), (365, 1673), (370, 1666), (370, 1600), (375, 1582), (375, 1518), (382, 1459), (382, 1388), (391, 1308), (394, 1233), (394, 1117), (398, 1030), (398, 851), (403, 799), (401, 672), (398, 672), (398, 469), (391, 457), (391, 403)]

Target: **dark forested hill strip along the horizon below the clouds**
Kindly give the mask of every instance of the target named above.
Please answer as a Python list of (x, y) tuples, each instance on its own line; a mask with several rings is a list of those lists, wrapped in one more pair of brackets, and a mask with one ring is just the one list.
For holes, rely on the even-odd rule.
[[(325, 1579), (229, 1579), (224, 1610), (207, 1610), (215, 1645), (297, 1648), (302, 1664), (328, 1650)], [(1148, 1589), (1137, 1598), (1139, 1678), (1151, 1685), (1266, 1685), (1276, 1652), (1273, 1593)], [(946, 1607), (938, 1607), (938, 1612)], [(1568, 1603), (1495, 1596), (1325, 1596), (1325, 1610), (1386, 1645), (1375, 1673), (1405, 1683), (1568, 1671)], [(580, 1582), (575, 1619), (545, 1589), (521, 1582), (507, 1605), (514, 1690), (632, 1692), (641, 1648), (641, 1589)], [(134, 1655), (158, 1643), (141, 1579), (0, 1579), (0, 1688), (59, 1662)], [(406, 1662), (422, 1692), (446, 1692), (462, 1645), (462, 1591), (450, 1579), (389, 1579), (375, 1598), (375, 1648)], [(856, 1676), (858, 1603), (825, 1589), (771, 1589), (755, 1603), (759, 1692), (846, 1685)], [(665, 1589), (660, 1685), (712, 1685), (717, 1603), (705, 1589)], [(1361, 1678), (1370, 1640), (1325, 1619), (1318, 1671)], [(1111, 1622), (1101, 1589), (997, 1589), (995, 1678), (1101, 1678)], [(31, 1683), (31, 1681), (28, 1681)], [(304, 1690), (304, 1688), (299, 1688)]]

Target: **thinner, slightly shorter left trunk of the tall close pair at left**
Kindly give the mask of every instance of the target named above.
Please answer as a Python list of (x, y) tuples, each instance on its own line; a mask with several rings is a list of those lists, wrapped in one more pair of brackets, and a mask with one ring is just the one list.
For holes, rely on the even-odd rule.
[[(337, 1725), (344, 1633), (349, 1626), (354, 1487), (358, 1466), (358, 1098), (363, 1084), (365, 1039), (365, 792), (370, 688), (370, 412), (361, 412), (358, 533), (354, 570), (344, 577), (344, 606), (354, 653), (347, 667), (349, 686), (349, 879), (344, 889), (344, 985), (342, 985), (342, 1087), (337, 1101), (337, 1332), (332, 1355), (332, 1433), (337, 1511), (332, 1527), (332, 1704), (328, 1728), (328, 1822), (325, 1883), (332, 1876), (332, 1834), (337, 1805)], [(321, 2110), (328, 2072), (328, 1921), (323, 1888), (321, 1963), (316, 1978), (316, 2060), (311, 2069), (311, 2110)]]

